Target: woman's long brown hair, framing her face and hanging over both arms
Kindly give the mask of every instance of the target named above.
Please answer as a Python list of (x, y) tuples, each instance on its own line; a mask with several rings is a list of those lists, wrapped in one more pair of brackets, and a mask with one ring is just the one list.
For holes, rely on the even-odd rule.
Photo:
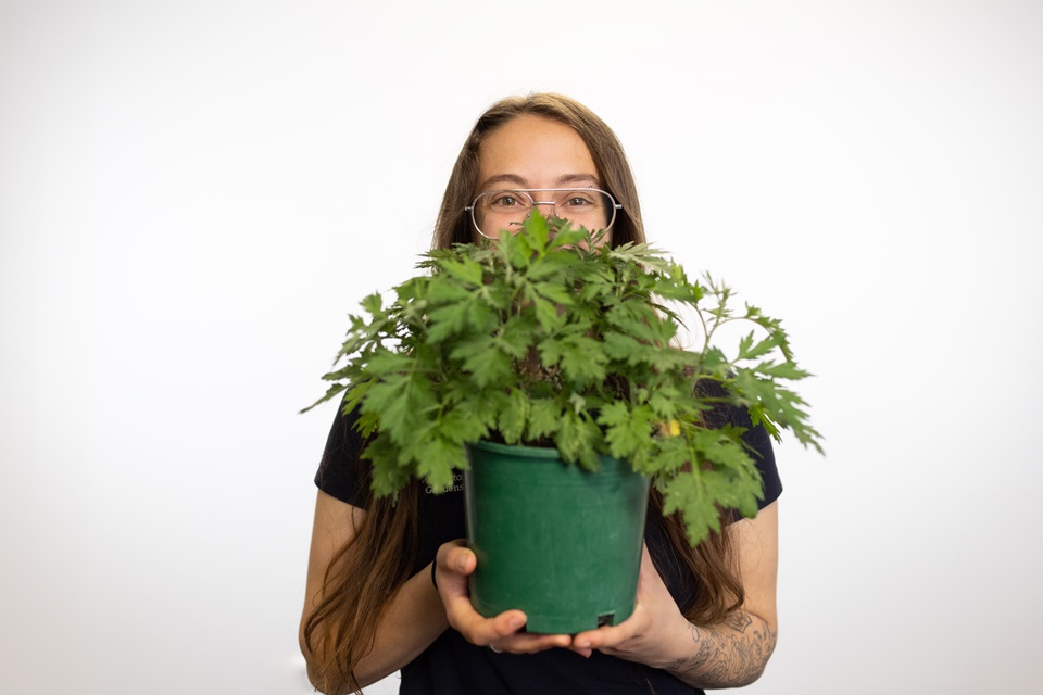
[[(623, 146), (608, 126), (582, 104), (561, 94), (536, 93), (498, 101), (478, 118), (461, 150), (435, 225), (435, 248), (473, 240), (464, 207), (476, 195), (478, 155), (485, 137), (512, 118), (535, 114), (574, 128), (587, 143), (602, 186), (623, 204), (612, 230), (612, 243), (643, 242), (644, 226), (637, 187)], [(366, 484), (368, 476), (357, 478)], [(366, 515), (356, 534), (334, 557), (326, 571), (322, 595), (304, 624), (304, 641), (318, 659), (314, 671), (319, 687), (329, 692), (347, 684), (361, 692), (354, 668), (373, 648), (377, 623), (402, 584), (410, 578), (417, 554), (419, 488), (412, 483), (391, 497), (368, 494)], [(653, 488), (650, 514), (662, 518), (663, 497)], [(686, 617), (698, 624), (719, 622), (743, 601), (738, 567), (725, 533), (713, 534), (698, 547), (684, 535), (678, 515), (664, 518), (674, 548), (673, 557), (657, 564), (680, 564), (696, 583)]]

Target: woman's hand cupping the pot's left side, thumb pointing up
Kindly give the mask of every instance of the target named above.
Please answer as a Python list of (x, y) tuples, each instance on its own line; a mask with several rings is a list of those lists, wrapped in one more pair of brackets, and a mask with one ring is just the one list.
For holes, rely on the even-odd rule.
[(443, 543), (436, 555), (435, 580), (445, 606), (449, 624), (464, 639), (494, 652), (532, 654), (552, 647), (567, 647), (573, 639), (567, 634), (529, 634), (518, 632), (526, 621), (520, 610), (505, 610), (486, 618), (470, 605), (467, 578), (478, 566), (478, 558), (466, 546), (466, 541)]

